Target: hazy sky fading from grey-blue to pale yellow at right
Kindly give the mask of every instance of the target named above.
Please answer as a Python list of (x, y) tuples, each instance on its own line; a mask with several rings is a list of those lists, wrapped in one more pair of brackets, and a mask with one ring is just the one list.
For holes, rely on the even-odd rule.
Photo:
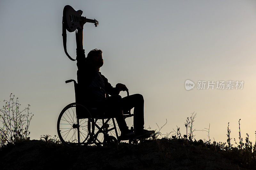
[[(112, 86), (122, 83), (144, 97), (146, 129), (166, 134), (197, 113), (196, 130), (226, 142), (246, 133), (255, 142), (256, 1), (0, 1), (0, 106), (10, 93), (21, 108), (30, 104), (30, 137), (57, 135), (60, 111), (75, 102), (76, 61), (62, 44), (65, 5), (100, 24), (84, 26), (84, 49), (103, 51), (100, 72)], [(76, 55), (75, 33), (67, 49)], [(195, 87), (186, 90), (185, 81)], [(242, 89), (197, 89), (198, 81), (244, 81)], [(122, 97), (126, 92), (121, 92)], [(1, 105), (2, 103), (2, 105)], [(126, 119), (130, 127), (132, 118)], [(196, 139), (207, 139), (196, 131)], [(234, 143), (234, 140), (231, 143)]]

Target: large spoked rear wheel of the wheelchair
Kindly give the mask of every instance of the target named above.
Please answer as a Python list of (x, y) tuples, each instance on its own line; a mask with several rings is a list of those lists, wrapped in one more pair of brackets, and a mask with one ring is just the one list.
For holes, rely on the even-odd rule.
[[(77, 112), (84, 117), (77, 118)], [(57, 122), (60, 141), (67, 146), (92, 144), (94, 119), (88, 109), (78, 103), (70, 103), (60, 112)]]

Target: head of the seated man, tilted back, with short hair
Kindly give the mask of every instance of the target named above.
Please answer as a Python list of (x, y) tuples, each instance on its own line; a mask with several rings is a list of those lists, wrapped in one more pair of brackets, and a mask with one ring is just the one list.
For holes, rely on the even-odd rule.
[(86, 57), (86, 61), (95, 68), (100, 68), (103, 65), (102, 51), (97, 48), (91, 50)]

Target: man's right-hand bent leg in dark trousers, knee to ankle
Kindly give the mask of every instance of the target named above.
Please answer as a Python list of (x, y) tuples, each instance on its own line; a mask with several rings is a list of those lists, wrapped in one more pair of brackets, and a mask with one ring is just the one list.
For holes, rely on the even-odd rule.
[(134, 107), (134, 131), (144, 129), (144, 99), (141, 94), (132, 94), (121, 100), (121, 109), (130, 110)]

